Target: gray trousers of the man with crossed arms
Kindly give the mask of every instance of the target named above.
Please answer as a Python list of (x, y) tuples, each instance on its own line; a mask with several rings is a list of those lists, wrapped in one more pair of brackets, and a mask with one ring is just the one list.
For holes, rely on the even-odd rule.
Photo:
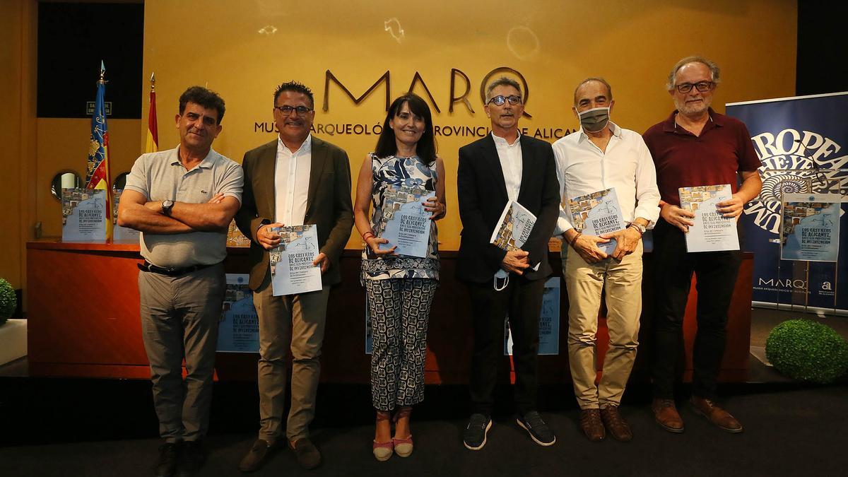
[[(166, 442), (198, 441), (209, 429), (224, 265), (181, 277), (138, 272), (142, 339), (150, 362), (153, 406)], [(182, 360), (186, 378), (182, 378)]]

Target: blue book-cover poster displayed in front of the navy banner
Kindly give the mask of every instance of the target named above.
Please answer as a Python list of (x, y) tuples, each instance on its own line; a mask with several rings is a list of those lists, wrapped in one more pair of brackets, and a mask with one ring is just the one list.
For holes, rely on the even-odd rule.
[(784, 194), (780, 258), (837, 261), (841, 199), (840, 194)]

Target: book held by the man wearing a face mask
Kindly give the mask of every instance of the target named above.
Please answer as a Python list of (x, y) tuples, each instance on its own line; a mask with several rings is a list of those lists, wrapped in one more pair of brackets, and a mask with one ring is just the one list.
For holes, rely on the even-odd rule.
[[(622, 208), (618, 205), (616, 188), (607, 188), (568, 199), (568, 209), (572, 213), (572, 225), (584, 235), (600, 236), (618, 232), (624, 228), (624, 218)], [(616, 250), (616, 240), (611, 239), (605, 244), (598, 244), (598, 248), (610, 255)]]

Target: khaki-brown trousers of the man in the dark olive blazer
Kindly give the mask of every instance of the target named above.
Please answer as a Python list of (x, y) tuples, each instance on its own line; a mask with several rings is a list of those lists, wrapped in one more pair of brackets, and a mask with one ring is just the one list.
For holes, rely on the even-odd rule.
[(292, 350), (292, 407), (286, 436), (298, 441), (310, 435), (315, 393), (321, 375), (326, 300), (330, 287), (298, 295), (274, 296), (271, 280), (254, 292), (259, 316), (259, 439), (270, 444), (281, 434), (286, 407), (286, 356)]

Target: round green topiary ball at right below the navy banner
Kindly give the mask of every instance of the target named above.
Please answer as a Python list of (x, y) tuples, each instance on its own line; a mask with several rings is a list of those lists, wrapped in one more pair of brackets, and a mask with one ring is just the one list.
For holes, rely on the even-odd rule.
[(827, 325), (789, 320), (768, 334), (766, 357), (789, 378), (827, 384), (848, 372), (848, 341)]

